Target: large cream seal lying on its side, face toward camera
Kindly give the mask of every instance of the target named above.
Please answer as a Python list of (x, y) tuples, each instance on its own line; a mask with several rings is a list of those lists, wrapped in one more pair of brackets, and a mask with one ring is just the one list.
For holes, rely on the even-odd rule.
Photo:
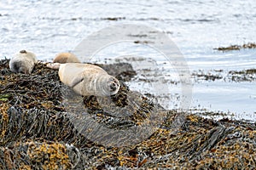
[(47, 65), (59, 69), (61, 82), (82, 96), (110, 96), (117, 94), (120, 88), (118, 79), (108, 75), (101, 67), (82, 63)]

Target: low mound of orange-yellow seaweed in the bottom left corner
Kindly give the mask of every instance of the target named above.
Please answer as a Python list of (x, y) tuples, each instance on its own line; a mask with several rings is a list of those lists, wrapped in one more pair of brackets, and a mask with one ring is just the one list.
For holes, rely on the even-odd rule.
[(0, 147), (1, 169), (71, 169), (79, 161), (77, 149), (59, 142), (15, 142)]

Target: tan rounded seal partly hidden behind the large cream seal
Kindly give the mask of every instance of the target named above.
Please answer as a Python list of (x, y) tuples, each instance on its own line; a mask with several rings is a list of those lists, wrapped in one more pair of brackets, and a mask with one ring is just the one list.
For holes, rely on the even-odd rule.
[(55, 56), (54, 63), (81, 63), (79, 59), (71, 53), (60, 53)]

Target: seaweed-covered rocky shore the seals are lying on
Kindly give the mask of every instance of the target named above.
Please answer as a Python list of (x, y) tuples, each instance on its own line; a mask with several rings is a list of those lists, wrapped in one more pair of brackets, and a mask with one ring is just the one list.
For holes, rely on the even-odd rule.
[[(112, 68), (118, 68), (112, 75), (122, 82), (118, 94), (81, 97), (42, 63), (24, 75), (12, 73), (9, 60), (1, 60), (0, 169), (256, 168), (255, 123), (184, 113), (176, 126), (182, 113), (165, 111), (154, 99), (125, 85), (135, 76), (131, 65), (105, 65), (109, 74)], [(148, 131), (136, 128), (152, 122), (154, 128)], [(84, 135), (90, 127), (134, 129), (144, 136), (125, 145), (125, 139), (112, 131)]]

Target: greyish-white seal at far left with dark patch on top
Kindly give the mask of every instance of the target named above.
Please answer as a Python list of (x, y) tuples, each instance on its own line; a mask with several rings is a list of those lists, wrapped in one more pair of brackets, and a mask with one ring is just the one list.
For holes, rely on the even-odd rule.
[(21, 50), (9, 61), (9, 68), (16, 73), (31, 74), (38, 59), (32, 52)]

